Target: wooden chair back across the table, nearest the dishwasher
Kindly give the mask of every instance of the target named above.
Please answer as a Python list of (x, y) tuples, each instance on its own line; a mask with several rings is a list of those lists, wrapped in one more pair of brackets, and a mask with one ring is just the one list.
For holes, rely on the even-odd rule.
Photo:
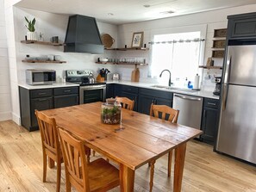
[[(166, 105), (154, 105), (151, 104), (150, 115), (160, 118), (162, 120), (171, 121), (177, 123), (179, 110), (175, 110)], [(168, 119), (167, 119), (168, 118)]]

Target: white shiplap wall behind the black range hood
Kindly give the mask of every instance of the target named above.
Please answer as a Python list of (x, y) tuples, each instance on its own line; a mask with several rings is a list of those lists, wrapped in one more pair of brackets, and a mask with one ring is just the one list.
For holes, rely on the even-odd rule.
[[(14, 15), (14, 31), (15, 31), (15, 49), (13, 51), (16, 58), (10, 61), (10, 71), (15, 74), (11, 76), (11, 81), (14, 82), (12, 87), (12, 103), (13, 103), (13, 113), (20, 117), (19, 108), (19, 97), (18, 97), (18, 84), (25, 82), (25, 70), (26, 69), (52, 69), (56, 71), (57, 77), (63, 77), (66, 70), (92, 70), (95, 74), (98, 73), (100, 68), (108, 67), (109, 71), (114, 72), (115, 67), (113, 65), (97, 65), (95, 62), (98, 57), (103, 57), (104, 55), (93, 55), (89, 53), (64, 53), (63, 46), (45, 46), (38, 44), (23, 44), (21, 40), (25, 39), (28, 29), (25, 27), (24, 16), (27, 16), (29, 20), (36, 18), (35, 31), (37, 34), (40, 32), (43, 34), (45, 41), (50, 41), (52, 36), (59, 36), (59, 41), (63, 42), (66, 35), (66, 27), (68, 22), (67, 15), (58, 15), (47, 12), (42, 12), (34, 9), (22, 9), (13, 7)], [(114, 39), (117, 39), (117, 26), (97, 22), (99, 31), (101, 34), (107, 33), (111, 34)], [(115, 46), (115, 45), (114, 45)], [(61, 60), (65, 60), (66, 64), (29, 64), (22, 62), (26, 55), (30, 57), (41, 57), (47, 55), (60, 55)], [(111, 53), (107, 54), (111, 56)], [(12, 70), (16, 71), (13, 72)], [(15, 87), (15, 88), (14, 88)], [(20, 123), (17, 120), (16, 123)]]

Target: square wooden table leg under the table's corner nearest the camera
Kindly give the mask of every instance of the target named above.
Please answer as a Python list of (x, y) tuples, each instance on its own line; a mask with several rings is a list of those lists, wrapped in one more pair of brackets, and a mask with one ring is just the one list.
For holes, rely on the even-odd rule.
[(131, 170), (124, 164), (120, 164), (120, 189), (122, 192), (134, 191), (135, 170)]

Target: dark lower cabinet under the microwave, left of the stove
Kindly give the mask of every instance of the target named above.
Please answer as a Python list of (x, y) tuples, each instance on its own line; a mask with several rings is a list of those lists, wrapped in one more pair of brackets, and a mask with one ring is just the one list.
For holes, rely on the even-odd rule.
[(22, 127), (38, 130), (34, 110), (47, 110), (78, 105), (78, 87), (28, 90), (19, 86)]

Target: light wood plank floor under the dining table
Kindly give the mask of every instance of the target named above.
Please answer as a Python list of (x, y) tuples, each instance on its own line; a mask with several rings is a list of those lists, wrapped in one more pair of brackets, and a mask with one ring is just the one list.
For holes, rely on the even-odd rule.
[[(172, 191), (166, 164), (166, 156), (155, 164), (153, 191)], [(61, 191), (66, 191), (64, 166), (61, 171)], [(56, 191), (56, 169), (47, 169), (47, 183), (41, 178), (40, 132), (29, 133), (13, 121), (0, 121), (0, 191)], [(148, 181), (149, 168), (144, 165), (136, 170), (134, 191), (148, 191)], [(182, 191), (256, 191), (256, 167), (212, 152), (212, 146), (193, 140), (187, 147)]]

